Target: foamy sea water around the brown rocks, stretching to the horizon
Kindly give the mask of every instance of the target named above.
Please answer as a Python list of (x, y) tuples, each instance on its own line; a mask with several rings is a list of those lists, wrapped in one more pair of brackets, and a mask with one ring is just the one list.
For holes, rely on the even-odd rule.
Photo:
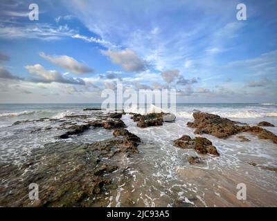
[[(20, 165), (34, 149), (57, 142), (57, 135), (63, 132), (59, 126), (66, 115), (91, 113), (94, 119), (93, 113), (97, 111), (82, 111), (84, 108), (100, 108), (100, 104), (0, 104), (0, 162)], [(177, 104), (174, 123), (149, 128), (138, 128), (130, 115), (123, 115), (127, 130), (141, 137), (142, 144), (138, 147), (139, 154), (123, 160), (132, 165), (127, 169), (131, 186), (118, 187), (105, 206), (126, 206), (127, 198), (132, 198), (134, 206), (277, 205), (276, 172), (249, 164), (277, 167), (277, 146), (270, 140), (259, 140), (249, 133), (242, 135), (250, 142), (239, 142), (237, 135), (226, 140), (203, 135), (213, 142), (220, 157), (202, 156), (204, 164), (188, 164), (188, 156), (196, 155), (195, 151), (176, 148), (173, 140), (182, 135), (195, 136), (194, 130), (186, 126), (187, 122), (193, 122), (195, 111), (217, 114), (250, 126), (261, 121), (277, 125), (277, 104)], [(44, 117), (56, 121), (32, 122)], [(30, 121), (12, 126), (27, 119)], [(276, 127), (267, 130), (277, 134)], [(112, 131), (91, 128), (64, 142), (90, 143), (111, 137)], [(247, 202), (235, 197), (239, 183), (247, 184)]]

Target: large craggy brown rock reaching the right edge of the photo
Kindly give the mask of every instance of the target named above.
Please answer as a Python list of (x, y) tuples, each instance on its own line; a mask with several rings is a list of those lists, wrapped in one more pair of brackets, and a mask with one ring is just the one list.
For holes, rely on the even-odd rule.
[(227, 138), (241, 132), (257, 135), (260, 139), (272, 140), (277, 144), (277, 135), (258, 126), (244, 125), (240, 126), (240, 122), (233, 122), (230, 119), (222, 118), (219, 115), (210, 113), (195, 112), (194, 122), (188, 122), (190, 128), (196, 128), (195, 134), (210, 134), (218, 138)]

